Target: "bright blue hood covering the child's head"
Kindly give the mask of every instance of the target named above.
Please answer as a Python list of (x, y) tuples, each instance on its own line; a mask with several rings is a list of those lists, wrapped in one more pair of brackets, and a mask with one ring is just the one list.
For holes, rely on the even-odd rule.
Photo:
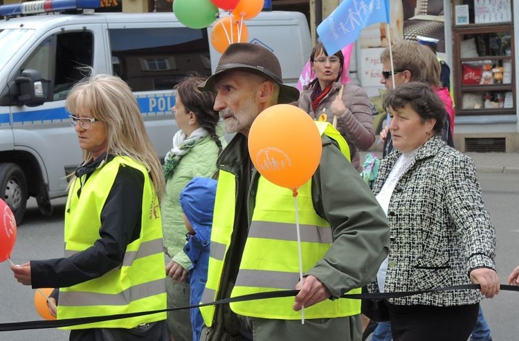
[(194, 177), (180, 193), (185, 226), (191, 234), (210, 228), (215, 208), (217, 181), (208, 177)]

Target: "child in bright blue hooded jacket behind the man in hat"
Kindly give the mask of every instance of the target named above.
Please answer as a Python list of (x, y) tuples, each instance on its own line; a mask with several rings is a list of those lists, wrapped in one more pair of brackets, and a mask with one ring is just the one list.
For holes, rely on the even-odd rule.
[[(191, 297), (190, 304), (200, 304), (206, 287), (209, 263), (209, 243), (211, 237), (212, 213), (215, 207), (217, 182), (207, 177), (195, 177), (180, 193), (185, 227), (189, 233), (184, 252), (192, 262), (189, 270)], [(203, 319), (200, 309), (190, 311), (193, 340), (200, 340)]]

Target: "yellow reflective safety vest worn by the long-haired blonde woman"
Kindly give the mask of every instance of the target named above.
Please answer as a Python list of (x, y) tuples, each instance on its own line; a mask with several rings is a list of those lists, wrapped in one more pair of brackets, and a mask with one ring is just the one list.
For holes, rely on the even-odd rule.
[[(140, 235), (126, 249), (122, 264), (101, 277), (60, 289), (57, 318), (80, 318), (166, 309), (162, 223), (158, 198), (146, 168), (129, 157), (114, 157), (84, 175), (69, 190), (65, 213), (65, 253), (91, 247), (100, 238), (100, 213), (119, 166), (130, 166), (144, 175)], [(81, 195), (77, 193), (81, 189)], [(81, 324), (63, 329), (133, 328), (145, 322), (165, 320), (166, 313)]]

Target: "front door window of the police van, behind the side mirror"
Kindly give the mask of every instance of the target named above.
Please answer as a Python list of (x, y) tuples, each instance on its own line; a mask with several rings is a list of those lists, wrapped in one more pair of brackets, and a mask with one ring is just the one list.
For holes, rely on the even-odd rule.
[(66, 99), (72, 86), (89, 74), (93, 61), (91, 32), (66, 32), (48, 37), (24, 63), (22, 70), (39, 71), (47, 101)]

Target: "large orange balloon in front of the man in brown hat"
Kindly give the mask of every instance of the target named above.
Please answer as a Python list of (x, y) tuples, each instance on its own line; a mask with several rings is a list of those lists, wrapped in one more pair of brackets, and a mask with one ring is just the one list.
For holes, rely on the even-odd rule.
[(304, 110), (277, 104), (254, 120), (248, 134), (248, 153), (268, 181), (295, 191), (316, 173), (322, 153), (321, 137)]

